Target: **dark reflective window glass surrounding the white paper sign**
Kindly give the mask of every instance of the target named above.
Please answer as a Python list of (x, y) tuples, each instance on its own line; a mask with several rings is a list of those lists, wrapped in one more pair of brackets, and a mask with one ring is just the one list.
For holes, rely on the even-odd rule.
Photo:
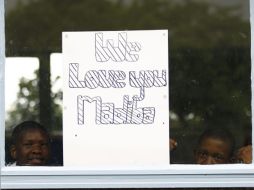
[(50, 133), (48, 164), (63, 165), (63, 31), (158, 29), (168, 30), (170, 163), (251, 162), (248, 0), (6, 0), (5, 6), (6, 164), (15, 162), (14, 127), (33, 120)]

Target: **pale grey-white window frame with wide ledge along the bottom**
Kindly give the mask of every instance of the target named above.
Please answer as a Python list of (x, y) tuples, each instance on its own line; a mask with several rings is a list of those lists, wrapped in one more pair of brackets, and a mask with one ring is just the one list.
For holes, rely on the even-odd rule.
[[(254, 60), (254, 2), (250, 1), (251, 59)], [(0, 2), (0, 146), (5, 146), (4, 1)], [(253, 67), (253, 63), (251, 63)], [(254, 70), (251, 69), (251, 79)], [(251, 83), (254, 92), (254, 81)], [(254, 95), (252, 94), (252, 99)], [(252, 113), (254, 112), (252, 101)], [(252, 124), (254, 118), (252, 117)], [(252, 130), (252, 137), (254, 131)], [(252, 144), (254, 144), (252, 138)], [(253, 164), (169, 165), (168, 168), (5, 167), (0, 149), (0, 188), (254, 187)], [(254, 151), (253, 151), (254, 155)], [(254, 162), (254, 156), (253, 156)], [(232, 167), (233, 166), (233, 167)]]

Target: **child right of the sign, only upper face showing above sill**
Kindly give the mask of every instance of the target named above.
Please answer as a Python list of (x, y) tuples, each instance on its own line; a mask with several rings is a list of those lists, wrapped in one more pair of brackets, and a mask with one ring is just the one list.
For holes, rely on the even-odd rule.
[(207, 129), (198, 140), (195, 151), (197, 164), (227, 164), (234, 151), (234, 138), (221, 128)]

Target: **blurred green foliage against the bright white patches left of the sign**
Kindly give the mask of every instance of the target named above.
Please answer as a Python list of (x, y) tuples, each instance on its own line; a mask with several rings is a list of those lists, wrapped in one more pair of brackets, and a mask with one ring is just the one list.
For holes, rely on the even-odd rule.
[[(39, 89), (38, 89), (38, 71), (34, 73), (34, 79), (22, 77), (19, 82), (19, 92), (14, 106), (8, 111), (6, 120), (7, 129), (11, 129), (24, 120), (34, 120), (39, 122)], [(54, 82), (59, 80), (56, 78)], [(51, 93), (53, 102), (52, 114), (53, 128), (50, 130), (61, 130), (62, 128), (62, 92)]]

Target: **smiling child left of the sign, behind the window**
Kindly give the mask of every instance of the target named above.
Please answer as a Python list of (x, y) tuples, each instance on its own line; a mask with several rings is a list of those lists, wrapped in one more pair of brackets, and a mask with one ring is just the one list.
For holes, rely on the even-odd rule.
[(50, 138), (37, 122), (25, 121), (12, 132), (11, 157), (17, 166), (46, 166), (50, 158)]

